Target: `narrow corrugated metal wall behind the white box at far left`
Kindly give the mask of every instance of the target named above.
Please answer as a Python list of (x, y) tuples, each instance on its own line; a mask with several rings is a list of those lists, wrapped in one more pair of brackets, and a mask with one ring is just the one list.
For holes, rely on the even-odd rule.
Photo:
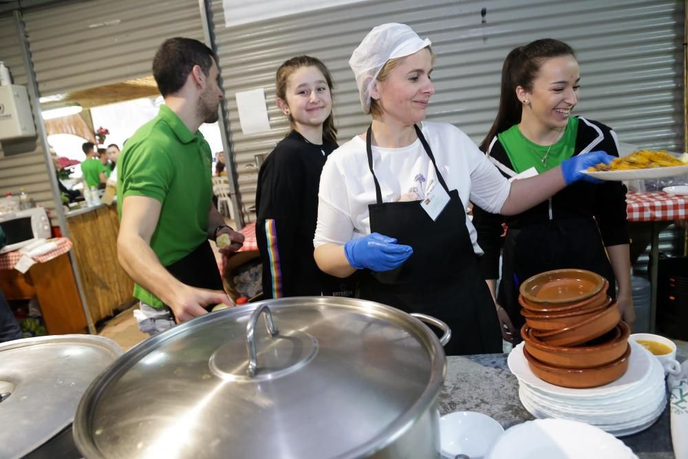
[[(24, 66), (19, 43), (19, 34), (13, 17), (0, 18), (0, 61), (4, 61), (14, 84), (27, 85), (27, 70)], [(35, 114), (34, 114), (35, 117)], [(6, 193), (19, 195), (24, 188), (30, 197), (52, 215), (52, 224), (57, 226), (55, 200), (50, 189), (48, 173), (52, 171), (45, 162), (43, 147), (37, 138), (2, 142), (4, 157), (0, 158), (0, 196)]]

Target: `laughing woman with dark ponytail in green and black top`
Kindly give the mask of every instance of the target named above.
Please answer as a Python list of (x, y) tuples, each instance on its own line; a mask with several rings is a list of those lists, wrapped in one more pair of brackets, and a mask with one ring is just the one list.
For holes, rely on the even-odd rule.
[[(480, 145), (508, 178), (535, 175), (593, 150), (619, 156), (609, 127), (571, 116), (578, 103), (580, 72), (572, 48), (553, 39), (512, 50), (502, 68), (499, 112)], [(499, 251), (502, 280), (496, 295), (502, 335), (520, 341), (519, 284), (537, 273), (581, 268), (610, 283), (623, 319), (635, 320), (630, 284), (626, 189), (621, 182), (577, 182), (519, 215), (504, 217), (474, 207), (473, 224), (485, 254), (483, 275), (495, 295)], [(506, 237), (502, 237), (506, 224)], [(606, 249), (606, 250), (605, 250)]]

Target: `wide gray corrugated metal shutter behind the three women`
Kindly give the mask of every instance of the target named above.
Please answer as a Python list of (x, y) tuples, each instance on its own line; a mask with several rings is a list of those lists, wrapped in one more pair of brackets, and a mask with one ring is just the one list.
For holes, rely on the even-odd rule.
[[(244, 206), (255, 202), (254, 156), (269, 153), (288, 131), (275, 107), (275, 71), (311, 54), (330, 68), (340, 142), (369, 123), (348, 66), (375, 25), (407, 23), (429, 36), (438, 55), (428, 120), (452, 122), (480, 142), (497, 111), (502, 62), (515, 45), (544, 37), (568, 42), (581, 65), (577, 114), (616, 129), (622, 141), (684, 151), (683, 1), (672, 0), (370, 0), (225, 28), (221, 0), (211, 12), (229, 111), (228, 129)], [(481, 17), (482, 8), (486, 16)], [(244, 136), (234, 94), (264, 87), (272, 131)], [(255, 215), (251, 215), (255, 218)]]

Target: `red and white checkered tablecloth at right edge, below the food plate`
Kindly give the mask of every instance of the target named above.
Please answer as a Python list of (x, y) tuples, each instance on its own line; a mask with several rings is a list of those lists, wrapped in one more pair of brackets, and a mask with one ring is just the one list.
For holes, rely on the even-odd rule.
[(627, 193), (626, 213), (630, 222), (687, 220), (688, 197), (667, 193)]

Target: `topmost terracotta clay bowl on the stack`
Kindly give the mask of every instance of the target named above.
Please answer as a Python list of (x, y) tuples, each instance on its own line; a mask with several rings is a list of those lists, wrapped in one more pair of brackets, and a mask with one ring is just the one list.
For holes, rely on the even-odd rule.
[(557, 269), (529, 277), (519, 292), (531, 303), (577, 303), (596, 295), (604, 277), (583, 269)]

